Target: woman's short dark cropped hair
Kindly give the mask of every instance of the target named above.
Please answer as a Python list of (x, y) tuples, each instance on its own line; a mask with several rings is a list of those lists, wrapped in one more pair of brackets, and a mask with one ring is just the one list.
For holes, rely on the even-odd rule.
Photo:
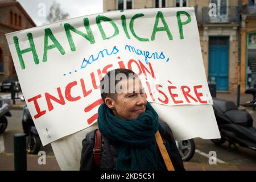
[(130, 69), (113, 69), (112, 71), (109, 71), (106, 73), (106, 75), (102, 78), (100, 82), (100, 88), (101, 88), (101, 98), (105, 102), (106, 97), (110, 97), (113, 100), (116, 99), (116, 90), (115, 86), (118, 84), (119, 81), (122, 81), (120, 78), (135, 78), (138, 77), (136, 73), (131, 71)]

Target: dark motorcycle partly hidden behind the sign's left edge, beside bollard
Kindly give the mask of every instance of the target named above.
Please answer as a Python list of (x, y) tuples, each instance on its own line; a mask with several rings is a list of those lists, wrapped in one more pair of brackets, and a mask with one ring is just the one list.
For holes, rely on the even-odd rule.
[[(20, 97), (20, 100), (24, 101), (24, 97)], [(22, 127), (23, 132), (27, 136), (27, 153), (38, 154), (42, 146), (42, 142), (39, 138), (38, 131), (31, 117), (30, 111), (27, 105), (23, 107), (22, 111)]]

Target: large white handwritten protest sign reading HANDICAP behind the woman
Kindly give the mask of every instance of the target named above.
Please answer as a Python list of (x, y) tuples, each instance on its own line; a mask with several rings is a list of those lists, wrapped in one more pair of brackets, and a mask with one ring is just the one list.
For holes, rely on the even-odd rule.
[(177, 140), (220, 137), (193, 7), (110, 11), (6, 38), (44, 145), (97, 122), (100, 80), (115, 68), (138, 74)]

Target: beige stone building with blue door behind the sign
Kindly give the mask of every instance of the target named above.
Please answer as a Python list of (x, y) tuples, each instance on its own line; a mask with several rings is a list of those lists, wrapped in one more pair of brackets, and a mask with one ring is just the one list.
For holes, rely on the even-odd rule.
[[(218, 92), (237, 92), (237, 85), (241, 84), (241, 93), (244, 93), (256, 80), (256, 61), (255, 78), (252, 76), (254, 72), (250, 75), (250, 69), (247, 68), (247, 49), (255, 47), (253, 26), (256, 23), (252, 15), (255, 8), (250, 9), (250, 14), (248, 11), (245, 14), (245, 11), (242, 13), (242, 6), (255, 7), (254, 0), (104, 0), (104, 12), (177, 6), (195, 7), (208, 80), (217, 83)], [(254, 42), (254, 46), (247, 46), (249, 39), (251, 44)], [(250, 55), (255, 55), (255, 51), (251, 52), (254, 53)], [(251, 61), (250, 65), (253, 64)]]

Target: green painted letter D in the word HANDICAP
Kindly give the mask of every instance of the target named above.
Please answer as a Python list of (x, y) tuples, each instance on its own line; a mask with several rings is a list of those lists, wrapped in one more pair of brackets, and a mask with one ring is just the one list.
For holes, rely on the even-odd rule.
[[(114, 34), (113, 34), (112, 36), (109, 36), (109, 37), (106, 36), (106, 34), (105, 34), (105, 32), (104, 32), (104, 30), (103, 30), (103, 28), (102, 28), (102, 26), (101, 26), (101, 21), (109, 22), (110, 24), (112, 24), (112, 26), (113, 26), (113, 28), (114, 28), (114, 30), (115, 30), (115, 32), (114, 32)], [(100, 32), (101, 32), (101, 36), (102, 36), (102, 39), (103, 39), (103, 40), (111, 39), (111, 38), (113, 38), (114, 36), (117, 36), (117, 35), (119, 34), (119, 30), (118, 30), (117, 25), (113, 22), (112, 19), (110, 19), (110, 18), (108, 18), (108, 17), (106, 17), (106, 16), (98, 15), (98, 16), (96, 17), (96, 23), (97, 23), (98, 29), (99, 29)]]

